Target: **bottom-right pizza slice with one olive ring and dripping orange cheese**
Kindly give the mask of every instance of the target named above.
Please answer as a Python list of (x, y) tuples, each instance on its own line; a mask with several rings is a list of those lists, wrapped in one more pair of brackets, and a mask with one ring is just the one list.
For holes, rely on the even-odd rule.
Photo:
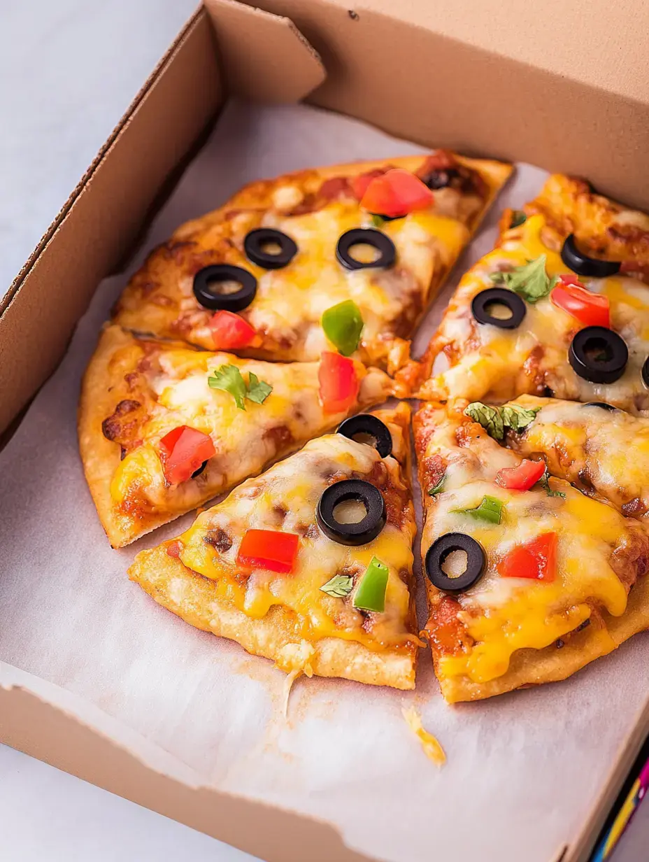
[[(522, 428), (529, 413), (509, 407), (506, 421)], [(427, 404), (414, 425), (426, 630), (446, 701), (565, 679), (649, 628), (637, 521), (548, 478), (463, 412)]]

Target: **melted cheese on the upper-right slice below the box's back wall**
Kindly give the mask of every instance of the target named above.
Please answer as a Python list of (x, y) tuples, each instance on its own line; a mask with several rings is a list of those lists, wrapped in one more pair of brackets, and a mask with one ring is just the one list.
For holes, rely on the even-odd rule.
[[(521, 228), (511, 232), (513, 235), (505, 234), (502, 247), (485, 255), (462, 278), (438, 339), (440, 345), (452, 345), (461, 358), (457, 365), (435, 373), (424, 390), (430, 390), (436, 397), (503, 401), (536, 390), (539, 383), (534, 370), (538, 367), (540, 379), (548, 375), (549, 385), (562, 397), (584, 402), (608, 401), (628, 409), (649, 411), (649, 390), (640, 375), (649, 355), (649, 302), (646, 286), (634, 278), (583, 279), (591, 290), (608, 296), (612, 327), (627, 343), (627, 368), (613, 384), (593, 384), (573, 372), (567, 349), (582, 324), (553, 305), (549, 297), (536, 303), (526, 302), (525, 318), (515, 329), (490, 324), (473, 326), (471, 300), (492, 286), (490, 273), (502, 265), (523, 265), (545, 254), (549, 276), (570, 272), (559, 253), (543, 242), (544, 227), (543, 215), (529, 216)], [(526, 363), (531, 357), (534, 361), (528, 371)]]

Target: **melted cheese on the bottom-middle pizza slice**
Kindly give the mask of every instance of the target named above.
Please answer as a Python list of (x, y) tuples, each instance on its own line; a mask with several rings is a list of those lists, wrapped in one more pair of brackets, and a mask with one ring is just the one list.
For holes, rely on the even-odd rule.
[[(410, 519), (403, 530), (389, 522), (375, 540), (360, 547), (340, 545), (315, 528), (315, 506), (334, 474), (340, 478), (368, 475), (381, 463), (393, 474), (393, 481), (400, 481), (396, 461), (381, 462), (373, 447), (338, 434), (312, 440), (300, 453), (260, 478), (249, 479), (199, 515), (179, 539), (180, 559), (194, 572), (212, 578), (219, 596), (252, 618), (264, 617), (273, 605), (292, 610), (295, 634), (305, 640), (331, 635), (375, 650), (405, 644), (413, 635), (406, 625), (410, 597), (401, 573), (412, 571), (414, 521)], [(260, 569), (241, 573), (236, 558), (249, 528), (299, 534), (294, 571), (289, 575)], [(231, 541), (227, 549), (217, 550), (209, 542), (219, 530)], [(388, 566), (390, 575), (384, 613), (372, 615), (371, 628), (366, 630), (365, 616), (353, 609), (353, 594), (343, 600), (320, 588), (340, 572), (357, 573), (358, 583), (358, 574), (375, 556)]]

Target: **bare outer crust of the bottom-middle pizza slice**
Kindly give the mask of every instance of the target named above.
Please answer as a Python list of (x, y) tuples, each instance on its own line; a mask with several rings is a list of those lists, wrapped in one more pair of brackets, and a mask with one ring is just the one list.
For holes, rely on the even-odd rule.
[(216, 584), (191, 572), (164, 546), (138, 554), (128, 577), (159, 605), (194, 628), (236, 640), (246, 652), (273, 660), (281, 670), (312, 671), (369, 685), (415, 688), (418, 647), (373, 652), (353, 640), (326, 637), (313, 644), (295, 634), (291, 611), (278, 605), (261, 619), (251, 619), (216, 594)]

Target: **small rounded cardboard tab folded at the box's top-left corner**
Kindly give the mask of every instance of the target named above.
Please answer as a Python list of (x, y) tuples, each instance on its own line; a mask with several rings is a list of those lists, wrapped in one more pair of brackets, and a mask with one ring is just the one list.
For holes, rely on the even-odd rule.
[(327, 77), (289, 18), (236, 0), (206, 0), (228, 90), (255, 101), (299, 102)]

